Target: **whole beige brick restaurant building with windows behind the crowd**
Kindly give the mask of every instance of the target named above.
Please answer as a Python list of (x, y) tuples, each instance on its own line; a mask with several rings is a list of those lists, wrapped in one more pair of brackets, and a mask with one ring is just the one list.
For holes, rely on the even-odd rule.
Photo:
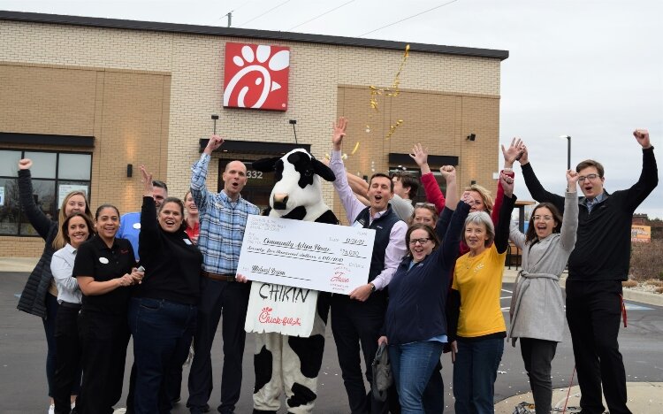
[[(404, 42), (23, 12), (0, 12), (0, 38), (3, 257), (37, 257), (43, 247), (21, 223), (20, 157), (34, 159), (35, 198), (54, 217), (72, 188), (88, 189), (93, 210), (114, 203), (121, 213), (137, 211), (141, 164), (168, 183), (171, 196), (184, 196), (211, 114), (228, 144), (215, 154), (208, 184), (217, 190), (229, 160), (247, 161), (244, 194), (254, 203), (267, 202), (272, 181), (251, 171), (250, 161), (302, 145), (324, 157), (331, 122), (341, 115), (350, 119), (344, 151), (351, 173), (414, 170), (408, 152), (422, 142), (431, 167), (456, 165), (461, 185), (496, 186), (505, 50), (412, 43), (400, 95), (378, 96), (373, 111), (368, 87), (392, 86)], [(287, 111), (224, 107), (227, 42), (290, 49)], [(331, 185), (324, 191), (344, 217)]]

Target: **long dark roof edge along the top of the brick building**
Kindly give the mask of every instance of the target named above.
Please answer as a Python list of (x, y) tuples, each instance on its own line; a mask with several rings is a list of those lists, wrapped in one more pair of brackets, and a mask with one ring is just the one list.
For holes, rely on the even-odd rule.
[(509, 57), (508, 50), (476, 49), (459, 46), (443, 46), (428, 43), (394, 42), (377, 39), (362, 39), (357, 37), (310, 35), (305, 33), (277, 32), (270, 30), (242, 29), (238, 27), (216, 27), (185, 25), (180, 23), (162, 23), (156, 21), (104, 19), (82, 16), (67, 16), (62, 14), (45, 14), (33, 12), (0, 11), (0, 20), (20, 21), (31, 23), (47, 23), (57, 25), (72, 25), (84, 27), (103, 27), (130, 30), (149, 30), (167, 33), (185, 33), (192, 35), (236, 36), (252, 37), (271, 41), (321, 43), (339, 46), (354, 46), (373, 49), (404, 50), (407, 44), (410, 51), (458, 55), (474, 58), (497, 58), (504, 60)]

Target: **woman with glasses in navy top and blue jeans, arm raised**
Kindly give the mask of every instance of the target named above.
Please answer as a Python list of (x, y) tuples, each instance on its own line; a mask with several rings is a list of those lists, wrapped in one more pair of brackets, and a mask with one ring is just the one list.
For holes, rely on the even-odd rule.
[[(408, 256), (389, 283), (385, 336), (402, 413), (423, 413), (423, 391), (439, 363), (446, 332), (446, 291), (461, 241), (461, 227), (473, 200), (465, 195), (456, 211), (446, 209), (448, 226), (415, 223), (408, 228)], [(451, 215), (451, 218), (448, 216)], [(446, 230), (446, 231), (445, 231)], [(440, 240), (442, 247), (439, 248)]]

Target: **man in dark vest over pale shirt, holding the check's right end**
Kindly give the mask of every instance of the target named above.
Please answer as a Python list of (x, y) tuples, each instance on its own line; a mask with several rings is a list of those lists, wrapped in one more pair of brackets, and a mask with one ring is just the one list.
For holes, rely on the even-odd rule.
[(347, 212), (352, 226), (376, 231), (373, 254), (370, 259), (369, 280), (355, 288), (350, 295), (331, 297), (331, 333), (336, 341), (339, 365), (346, 386), (347, 399), (353, 414), (384, 413), (386, 403), (375, 400), (369, 390), (366, 393), (362, 378), (360, 346), (366, 363), (366, 379), (371, 382), (370, 366), (377, 352), (377, 338), (384, 323), (386, 311), (385, 288), (392, 280), (393, 272), (405, 256), (405, 234), (408, 226), (392, 211), (389, 200), (393, 196), (393, 181), (383, 173), (374, 174), (367, 193), (370, 206), (365, 207), (350, 186), (340, 148), (346, 135), (347, 119), (340, 118), (333, 126), (330, 167), (336, 174), (334, 188)]

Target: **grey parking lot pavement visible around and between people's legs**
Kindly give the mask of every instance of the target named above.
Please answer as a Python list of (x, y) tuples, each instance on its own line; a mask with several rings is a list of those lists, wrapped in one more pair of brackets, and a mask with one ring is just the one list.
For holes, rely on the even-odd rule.
[[(45, 375), (46, 341), (43, 334), (43, 326), (40, 318), (16, 310), (18, 295), (27, 280), (27, 272), (0, 272), (0, 389), (5, 397), (0, 400), (0, 412), (11, 413), (39, 413), (48, 410), (48, 397)], [(513, 292), (513, 283), (505, 283), (500, 300), (501, 307), (508, 323), (508, 304)], [(660, 386), (656, 384), (663, 382), (663, 364), (660, 360), (660, 346), (663, 343), (663, 308), (642, 304), (628, 303), (629, 327), (622, 328), (620, 334), (621, 353), (626, 365), (627, 380), (629, 381), (629, 399), (638, 398), (638, 395), (651, 394), (652, 390), (660, 393)], [(247, 338), (247, 347), (244, 353), (244, 370), (242, 378), (242, 394), (237, 405), (236, 412), (249, 413), (253, 408), (251, 393), (254, 383), (253, 372), (253, 335)], [(118, 407), (124, 406), (126, 389), (128, 387), (128, 372), (133, 363), (133, 352), (127, 352), (125, 395), (118, 403)], [(222, 341), (220, 332), (212, 348), (212, 364), (214, 372), (214, 390), (210, 398), (212, 409), (217, 405), (219, 399), (219, 380), (223, 360)], [(442, 376), (445, 381), (445, 413), (453, 412), (453, 389), (452, 372), (453, 365), (448, 354), (442, 357)], [(574, 368), (574, 358), (571, 350), (568, 331), (565, 339), (557, 349), (557, 356), (552, 363), (552, 386), (555, 388), (568, 387), (569, 380)], [(173, 414), (185, 414), (187, 401), (186, 379), (188, 367), (185, 367), (185, 384), (182, 387), (182, 402), (179, 403)], [(630, 383), (636, 383), (631, 386)], [(643, 385), (645, 384), (645, 385)], [(654, 388), (659, 387), (659, 388)], [(631, 392), (631, 390), (634, 390)], [(527, 397), (530, 391), (527, 375), (524, 372), (520, 349), (507, 344), (499, 365), (499, 375), (495, 383), (496, 407), (506, 407), (507, 403), (499, 403), (511, 397), (514, 401), (520, 401)], [(641, 394), (637, 394), (640, 392)], [(573, 395), (573, 393), (572, 393)], [(653, 394), (652, 394), (653, 395)], [(643, 397), (644, 398), (644, 397)], [(639, 398), (638, 398), (639, 399)], [(648, 402), (652, 398), (647, 398)], [(509, 400), (511, 401), (511, 400)], [(571, 400), (569, 400), (570, 402)], [(632, 403), (637, 403), (636, 401)], [(510, 402), (508, 403), (510, 404)], [(631, 404), (631, 403), (629, 403)], [(645, 410), (646, 409), (646, 410)], [(499, 412), (512, 412), (499, 411)], [(633, 412), (663, 412), (663, 410), (649, 411), (648, 408), (635, 410)], [(338, 358), (331, 329), (327, 329), (326, 344), (324, 349), (323, 366), (320, 371), (318, 382), (318, 397), (316, 413), (337, 414), (347, 412), (347, 395), (341, 379)], [(282, 409), (280, 412), (285, 412)]]

